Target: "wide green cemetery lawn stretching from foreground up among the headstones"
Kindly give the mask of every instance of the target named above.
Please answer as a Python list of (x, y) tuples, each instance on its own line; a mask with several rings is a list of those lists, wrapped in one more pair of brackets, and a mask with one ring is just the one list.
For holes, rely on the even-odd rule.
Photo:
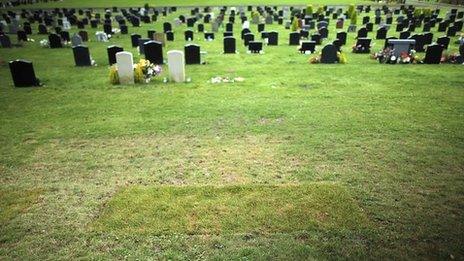
[[(354, 34), (347, 64), (309, 64), (269, 27), (263, 55), (195, 32), (207, 64), (185, 84), (164, 65), (110, 85), (108, 45), (138, 60), (129, 35), (87, 29), (90, 68), (37, 34), (0, 49), (0, 259), (464, 259), (464, 67), (381, 65)], [(45, 86), (13, 88), (17, 58)]]

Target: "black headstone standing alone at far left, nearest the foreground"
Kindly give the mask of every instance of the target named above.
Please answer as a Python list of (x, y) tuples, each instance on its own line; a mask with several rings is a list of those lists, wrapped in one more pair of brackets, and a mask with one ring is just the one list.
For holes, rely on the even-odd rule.
[(35, 77), (32, 62), (25, 60), (16, 60), (9, 62), (11, 77), (15, 87), (32, 87), (39, 86), (40, 82)]

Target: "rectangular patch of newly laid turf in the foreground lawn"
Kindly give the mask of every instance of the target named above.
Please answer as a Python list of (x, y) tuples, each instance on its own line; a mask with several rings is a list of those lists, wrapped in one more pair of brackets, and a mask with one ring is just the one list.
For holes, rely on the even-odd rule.
[(336, 184), (279, 186), (133, 186), (117, 193), (94, 223), (116, 233), (279, 233), (365, 224)]

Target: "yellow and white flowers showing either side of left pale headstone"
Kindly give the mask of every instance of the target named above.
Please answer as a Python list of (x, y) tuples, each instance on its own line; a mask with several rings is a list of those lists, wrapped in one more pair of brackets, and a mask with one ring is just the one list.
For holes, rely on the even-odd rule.
[[(154, 77), (162, 73), (161, 66), (151, 63), (146, 59), (134, 64), (134, 82), (135, 83), (149, 83)], [(119, 84), (118, 66), (113, 64), (110, 67), (110, 83)]]

